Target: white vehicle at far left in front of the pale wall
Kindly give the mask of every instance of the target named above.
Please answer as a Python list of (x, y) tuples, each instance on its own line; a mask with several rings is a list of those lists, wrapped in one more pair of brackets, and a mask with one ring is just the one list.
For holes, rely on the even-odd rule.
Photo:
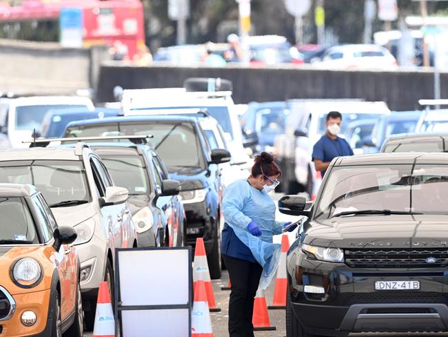
[(93, 110), (94, 106), (87, 97), (34, 96), (9, 99), (7, 122), (3, 125), (1, 132), (8, 135), (12, 147), (27, 147), (28, 145), (22, 144), (22, 141), (30, 139), (34, 130), (38, 134), (41, 133), (45, 114), (49, 110), (63, 108)]

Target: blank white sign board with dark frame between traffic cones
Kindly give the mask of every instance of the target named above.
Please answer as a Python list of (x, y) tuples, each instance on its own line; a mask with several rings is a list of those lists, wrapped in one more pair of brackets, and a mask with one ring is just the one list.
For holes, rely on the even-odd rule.
[(190, 248), (117, 249), (116, 268), (121, 336), (190, 336)]

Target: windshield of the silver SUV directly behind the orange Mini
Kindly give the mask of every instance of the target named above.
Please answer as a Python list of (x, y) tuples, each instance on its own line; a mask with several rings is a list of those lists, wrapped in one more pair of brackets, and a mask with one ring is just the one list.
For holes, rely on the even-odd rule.
[(68, 160), (23, 160), (0, 162), (0, 182), (33, 184), (50, 206), (61, 202), (90, 201), (82, 162)]

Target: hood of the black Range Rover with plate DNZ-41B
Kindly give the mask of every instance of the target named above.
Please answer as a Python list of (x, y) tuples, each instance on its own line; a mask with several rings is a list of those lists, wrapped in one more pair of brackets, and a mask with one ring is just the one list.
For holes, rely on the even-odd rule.
[(314, 220), (304, 242), (339, 248), (448, 247), (448, 215), (368, 215)]

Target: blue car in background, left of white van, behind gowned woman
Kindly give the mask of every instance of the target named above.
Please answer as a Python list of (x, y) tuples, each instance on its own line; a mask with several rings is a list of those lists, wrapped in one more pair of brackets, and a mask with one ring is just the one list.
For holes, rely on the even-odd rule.
[(285, 133), (285, 122), (289, 115), (287, 102), (252, 102), (241, 117), (243, 144), (252, 153), (272, 153), (276, 135)]

